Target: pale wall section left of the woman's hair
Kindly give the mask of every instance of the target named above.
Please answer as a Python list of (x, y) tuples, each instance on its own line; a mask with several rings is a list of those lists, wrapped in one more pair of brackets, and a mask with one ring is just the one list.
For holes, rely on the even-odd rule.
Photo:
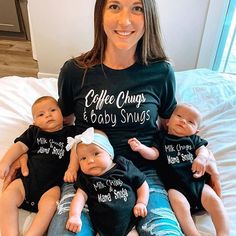
[(90, 49), (95, 0), (28, 0), (38, 77), (57, 76), (68, 58)]

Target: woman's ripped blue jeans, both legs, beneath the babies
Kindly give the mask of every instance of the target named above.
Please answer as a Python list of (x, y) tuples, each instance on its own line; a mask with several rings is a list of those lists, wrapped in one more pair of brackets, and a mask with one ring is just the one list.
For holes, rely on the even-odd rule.
[[(137, 225), (139, 235), (178, 235), (181, 236), (177, 219), (171, 210), (167, 193), (163, 188), (156, 172), (154, 170), (144, 172), (147, 176), (147, 182), (150, 188), (150, 198), (148, 203), (148, 215), (141, 219)], [(52, 219), (48, 230), (48, 236), (71, 236), (74, 233), (65, 229), (65, 224), (68, 219), (69, 207), (75, 190), (73, 184), (64, 184), (62, 188), (62, 196), (59, 207), (55, 216)], [(82, 230), (79, 236), (95, 235), (88, 216), (88, 212), (82, 212)]]

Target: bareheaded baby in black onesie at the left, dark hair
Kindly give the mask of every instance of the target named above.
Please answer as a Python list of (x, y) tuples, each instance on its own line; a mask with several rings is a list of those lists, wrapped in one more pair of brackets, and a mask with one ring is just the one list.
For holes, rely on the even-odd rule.
[[(29, 175), (21, 173), (0, 198), (2, 235), (19, 235), (18, 207), (37, 212), (26, 234), (44, 235), (60, 199), (60, 186), (70, 161), (67, 137), (74, 127), (63, 127), (63, 116), (57, 101), (50, 96), (32, 105), (34, 124), (18, 138), (0, 162), (0, 178), (21, 155), (28, 154)], [(10, 226), (9, 226), (10, 225)]]

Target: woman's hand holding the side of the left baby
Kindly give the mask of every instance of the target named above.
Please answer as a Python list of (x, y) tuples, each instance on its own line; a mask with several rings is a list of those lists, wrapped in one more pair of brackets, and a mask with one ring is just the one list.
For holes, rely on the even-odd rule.
[(3, 191), (16, 178), (16, 173), (18, 169), (21, 169), (21, 173), (23, 174), (23, 176), (27, 176), (29, 174), (27, 160), (28, 160), (28, 155), (25, 153), (12, 163), (10, 170), (3, 182), (3, 188), (2, 188)]

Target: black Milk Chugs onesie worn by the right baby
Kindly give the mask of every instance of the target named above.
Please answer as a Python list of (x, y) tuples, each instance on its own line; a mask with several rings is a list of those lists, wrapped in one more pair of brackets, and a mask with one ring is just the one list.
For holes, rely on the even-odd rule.
[(160, 157), (157, 169), (166, 189), (181, 192), (187, 198), (192, 212), (203, 209), (201, 193), (206, 176), (194, 178), (191, 168), (196, 149), (207, 145), (207, 141), (197, 135), (177, 137), (164, 132), (159, 132), (158, 141)]

